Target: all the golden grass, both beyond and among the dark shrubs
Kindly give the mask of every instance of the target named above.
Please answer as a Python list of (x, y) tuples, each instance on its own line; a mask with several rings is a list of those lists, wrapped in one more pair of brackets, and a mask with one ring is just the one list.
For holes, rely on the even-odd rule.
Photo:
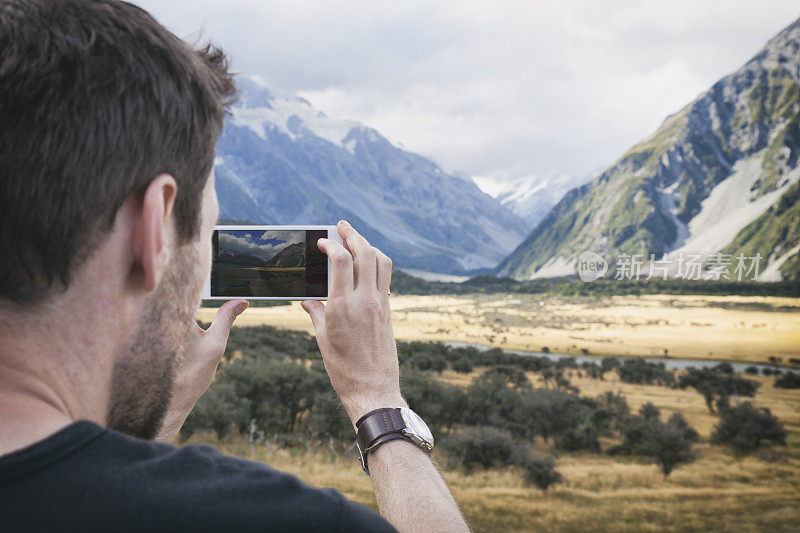
[[(515, 301), (516, 300), (516, 301)], [(518, 303), (517, 303), (518, 301)], [(540, 300), (530, 295), (393, 296), (399, 339), (453, 340), (502, 348), (592, 354), (670, 355), (764, 362), (769, 356), (800, 357), (800, 299), (733, 296), (641, 296)], [(543, 302), (543, 304), (540, 304)], [(201, 310), (208, 321), (213, 309)], [(248, 309), (237, 325), (269, 324), (313, 333), (297, 304)], [(468, 385), (471, 375), (446, 371), (441, 379)], [(662, 417), (681, 412), (707, 440), (716, 423), (693, 390), (570, 378), (581, 394), (621, 391), (632, 410), (645, 402)], [(538, 375), (532, 382), (541, 386)], [(776, 389), (774, 378), (756, 377), (754, 403), (784, 423), (787, 446), (737, 457), (729, 449), (700, 443), (697, 459), (664, 479), (639, 457), (553, 453), (564, 482), (548, 492), (526, 487), (513, 469), (445, 471), (444, 476), (474, 531), (800, 531), (800, 391)], [(369, 479), (353, 458), (325, 451), (258, 447), (241, 437), (211, 442), (223, 451), (264, 461), (315, 486), (335, 487), (377, 508)]]

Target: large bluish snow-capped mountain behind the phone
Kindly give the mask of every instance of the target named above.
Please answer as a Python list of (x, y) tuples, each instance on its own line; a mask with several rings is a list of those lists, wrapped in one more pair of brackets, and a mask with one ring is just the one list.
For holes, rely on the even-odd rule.
[(361, 123), (240, 77), (217, 144), (220, 218), (259, 224), (347, 219), (399, 267), (492, 267), (519, 244), (522, 219), (462, 176)]

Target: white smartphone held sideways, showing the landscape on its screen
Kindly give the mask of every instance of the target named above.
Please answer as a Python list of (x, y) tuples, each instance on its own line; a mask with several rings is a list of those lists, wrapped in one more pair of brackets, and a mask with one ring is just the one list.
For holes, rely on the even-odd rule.
[(215, 226), (205, 300), (327, 300), (331, 265), (320, 238), (336, 226)]

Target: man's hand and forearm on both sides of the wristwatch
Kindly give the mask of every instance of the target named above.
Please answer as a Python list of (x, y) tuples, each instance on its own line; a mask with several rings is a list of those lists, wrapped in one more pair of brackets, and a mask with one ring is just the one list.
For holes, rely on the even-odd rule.
[[(328, 305), (305, 300), (303, 308), (314, 322), (331, 384), (355, 425), (373, 409), (407, 405), (389, 313), (392, 262), (347, 222), (339, 222), (339, 234), (344, 246), (330, 239), (318, 244), (331, 260)], [(418, 446), (386, 442), (370, 452), (369, 470), (378, 508), (398, 530), (468, 531), (453, 495)]]

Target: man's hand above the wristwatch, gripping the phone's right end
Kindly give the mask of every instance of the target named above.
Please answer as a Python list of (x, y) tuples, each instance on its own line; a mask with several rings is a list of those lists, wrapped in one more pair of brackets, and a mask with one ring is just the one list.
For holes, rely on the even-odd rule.
[(328, 303), (305, 300), (303, 309), (314, 322), (331, 384), (355, 424), (373, 409), (406, 403), (389, 311), (392, 261), (347, 222), (338, 229), (344, 246), (318, 242), (331, 260)]

